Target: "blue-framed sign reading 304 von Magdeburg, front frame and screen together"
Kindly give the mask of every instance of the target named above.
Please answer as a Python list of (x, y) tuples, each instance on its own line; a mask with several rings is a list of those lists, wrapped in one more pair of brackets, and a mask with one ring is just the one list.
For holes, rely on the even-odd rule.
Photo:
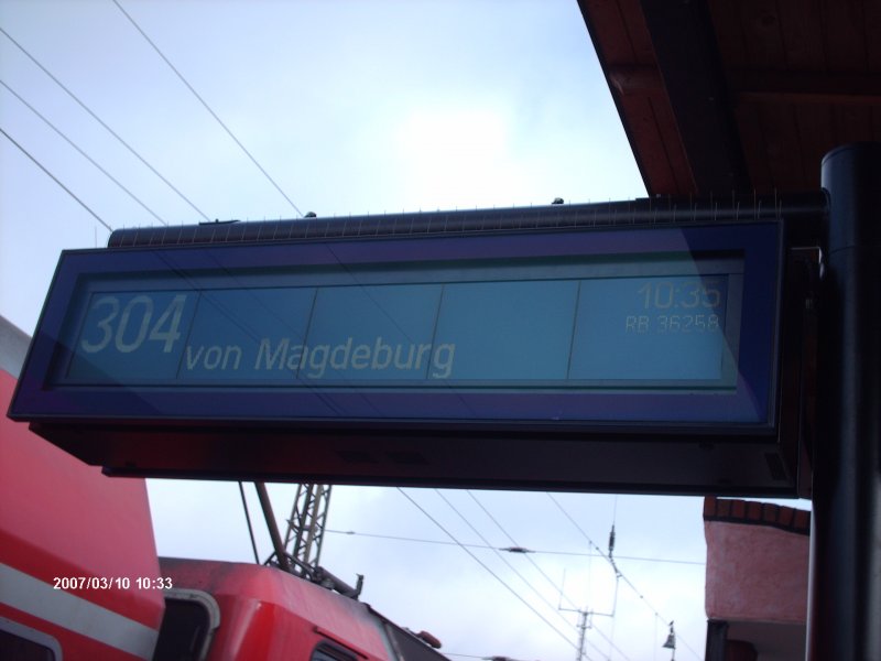
[(761, 436), (780, 254), (775, 223), (69, 251), (11, 415), (68, 440)]

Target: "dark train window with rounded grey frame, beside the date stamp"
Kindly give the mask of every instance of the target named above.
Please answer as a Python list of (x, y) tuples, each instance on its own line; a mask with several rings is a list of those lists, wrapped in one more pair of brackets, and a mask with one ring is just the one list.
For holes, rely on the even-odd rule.
[(220, 626), (220, 608), (200, 589), (166, 589), (153, 661), (200, 661)]

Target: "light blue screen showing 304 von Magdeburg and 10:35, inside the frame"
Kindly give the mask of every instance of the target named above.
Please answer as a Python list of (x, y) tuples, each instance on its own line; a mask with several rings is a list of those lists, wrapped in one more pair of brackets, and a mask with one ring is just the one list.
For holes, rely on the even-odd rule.
[(265, 273), (238, 274), (236, 289), (228, 275), (85, 280), (59, 382), (735, 386), (742, 260), (514, 260), (425, 275), (407, 264), (280, 272), (287, 283), (271, 288), (253, 282)]

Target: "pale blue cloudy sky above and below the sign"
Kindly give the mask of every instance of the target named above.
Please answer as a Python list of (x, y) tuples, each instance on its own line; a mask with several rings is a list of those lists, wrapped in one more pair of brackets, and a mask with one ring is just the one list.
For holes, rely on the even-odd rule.
[[(575, 0), (119, 2), (0, 1), (0, 314), (28, 333), (59, 252), (106, 243), (105, 225), (645, 194)], [(252, 559), (235, 484), (150, 492), (160, 553)], [(289, 516), (293, 489), (271, 492)], [(363, 600), (448, 654), (569, 660), (574, 611), (588, 609), (589, 659), (667, 659), (668, 620), (677, 659), (700, 659), (701, 506), (340, 487), (322, 561), (352, 583), (365, 574)], [(606, 551), (612, 524), (617, 602), (588, 541)], [(258, 542), (265, 557), (262, 528)]]

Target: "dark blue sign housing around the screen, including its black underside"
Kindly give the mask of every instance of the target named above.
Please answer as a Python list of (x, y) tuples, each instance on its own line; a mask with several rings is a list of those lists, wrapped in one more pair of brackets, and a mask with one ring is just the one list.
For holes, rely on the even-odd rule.
[[(674, 446), (687, 447), (687, 453), (721, 446), (724, 452), (714, 455), (714, 462), (730, 455), (733, 458), (724, 463), (742, 466), (749, 474), (768, 474), (769, 468), (757, 468), (754, 460), (742, 457), (750, 453), (766, 462), (772, 460), (770, 455), (777, 457), (770, 479), (764, 475), (759, 481), (766, 483), (762, 491), (782, 492), (794, 478), (779, 466), (776, 447), (784, 245), (784, 225), (772, 220), (65, 251), (10, 416), (31, 422), (51, 441), (117, 474), (530, 488), (613, 484), (619, 490), (692, 492), (705, 488), (698, 485), (730, 483), (730, 478), (714, 476), (718, 469), (696, 475), (692, 466), (678, 477), (659, 478), (664, 487), (646, 477), (635, 478), (643, 486), (627, 487), (627, 479), (614, 473), (603, 476), (602, 465), (611, 457), (620, 463), (637, 447), (649, 467), (657, 457), (676, 456)], [(100, 344), (101, 336), (87, 339), (80, 333), (89, 295), (96, 291), (137, 295), (141, 290), (156, 291), (156, 282), (162, 291), (177, 291), (168, 278), (198, 280), (218, 273), (227, 279), (249, 273), (271, 280), (272, 273), (290, 270), (341, 269), (357, 280), (359, 273), (390, 264), (406, 273), (411, 266), (426, 269), (426, 264), (450, 268), (520, 260), (529, 270), (536, 260), (545, 266), (573, 260), (632, 264), (695, 257), (704, 264), (724, 260), (739, 264), (739, 293), (731, 294), (741, 300), (737, 372), (724, 388), (701, 390), (685, 383), (661, 392), (644, 383), (631, 389), (620, 383), (579, 389), (561, 388), (558, 382), (500, 388), (498, 382), (464, 381), (440, 388), (414, 382), (379, 387), (312, 382), (290, 388), (195, 381), (170, 387), (88, 379), (77, 383), (68, 378), (76, 358), (72, 346)], [(91, 284), (84, 289), (85, 281)], [(137, 282), (141, 284), (132, 289)], [(268, 283), (253, 280), (246, 285), (278, 286)], [(215, 289), (227, 291), (228, 284)], [(648, 290), (643, 294), (648, 296)], [(710, 292), (704, 301), (711, 300)], [(109, 311), (110, 304), (106, 305)], [(161, 317), (160, 308), (167, 312), (167, 303), (156, 306), (154, 319)], [(137, 330), (123, 334), (122, 348), (138, 336)], [(155, 339), (161, 344), (163, 337)], [(666, 455), (664, 447), (670, 451)], [(176, 456), (168, 457), (168, 452)], [(557, 459), (536, 459), (545, 452), (607, 458), (579, 477), (572, 466), (561, 469)], [(496, 463), (491, 457), (503, 454), (508, 455), (503, 462), (486, 468)], [(273, 465), (284, 456), (289, 459)], [(704, 460), (699, 452), (695, 456), (698, 463)], [(463, 469), (466, 464), (483, 468)], [(673, 483), (678, 486), (670, 486)]]

